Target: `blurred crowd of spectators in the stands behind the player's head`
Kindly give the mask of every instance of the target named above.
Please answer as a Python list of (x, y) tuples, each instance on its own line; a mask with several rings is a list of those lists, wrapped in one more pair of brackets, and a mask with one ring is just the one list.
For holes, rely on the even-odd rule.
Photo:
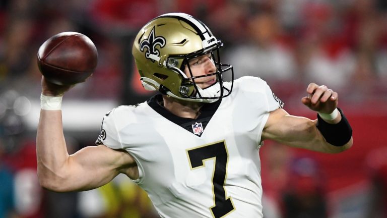
[(39, 46), (56, 33), (78, 31), (96, 44), (99, 63), (76, 97), (137, 103), (145, 99), (139, 95), (149, 94), (134, 73), (132, 41), (145, 22), (166, 12), (204, 21), (225, 43), (222, 60), (234, 66), (236, 77), (260, 76), (282, 98), (313, 81), (348, 101), (385, 100), (387, 3), (382, 0), (3, 0), (1, 87), (39, 93)]

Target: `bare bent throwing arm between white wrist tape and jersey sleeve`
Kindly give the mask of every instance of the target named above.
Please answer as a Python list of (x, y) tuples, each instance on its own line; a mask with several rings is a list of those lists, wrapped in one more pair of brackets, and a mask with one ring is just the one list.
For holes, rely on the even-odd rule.
[(85, 147), (69, 155), (61, 118), (61, 111), (40, 113), (36, 151), (43, 187), (60, 192), (93, 189), (108, 183), (123, 169), (136, 167), (130, 154), (104, 145)]

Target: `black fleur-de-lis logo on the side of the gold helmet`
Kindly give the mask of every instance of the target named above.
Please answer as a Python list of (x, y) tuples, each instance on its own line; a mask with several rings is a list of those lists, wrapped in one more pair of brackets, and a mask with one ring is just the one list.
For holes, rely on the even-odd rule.
[(155, 60), (150, 58), (150, 55), (155, 55), (157, 57), (160, 57), (160, 51), (156, 49), (157, 45), (159, 45), (160, 48), (164, 47), (165, 38), (162, 36), (155, 37), (155, 27), (153, 27), (148, 38), (141, 41), (140, 50), (144, 51), (144, 49), (147, 48), (147, 51), (145, 52), (145, 57), (151, 60), (152, 62), (155, 62)]

